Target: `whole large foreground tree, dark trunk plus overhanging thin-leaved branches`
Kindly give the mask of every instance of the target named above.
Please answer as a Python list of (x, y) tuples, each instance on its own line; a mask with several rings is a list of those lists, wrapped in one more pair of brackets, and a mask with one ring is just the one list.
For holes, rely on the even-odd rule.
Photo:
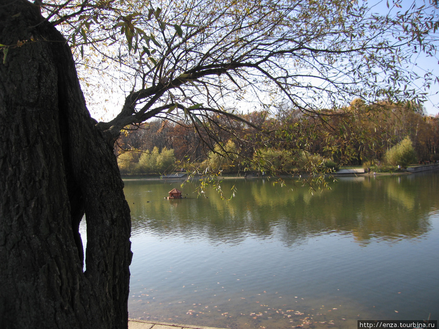
[[(320, 116), (354, 97), (412, 99), (434, 80), (427, 72), (413, 86), (407, 65), (414, 51), (434, 54), (428, 6), (394, 16), (351, 0), (0, 8), (2, 328), (127, 327), (130, 215), (113, 152), (127, 125), (185, 119), (215, 140), (245, 121), (229, 110), (238, 102), (287, 99)], [(94, 120), (81, 87), (91, 108), (118, 95), (118, 114)]]

